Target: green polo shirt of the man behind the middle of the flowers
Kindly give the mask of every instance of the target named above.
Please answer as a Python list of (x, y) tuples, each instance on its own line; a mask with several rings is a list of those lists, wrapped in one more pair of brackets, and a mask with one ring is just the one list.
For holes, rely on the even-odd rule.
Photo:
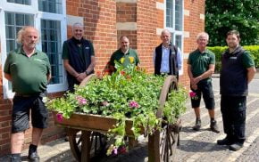
[(138, 53), (136, 53), (135, 50), (129, 48), (128, 53), (124, 54), (121, 52), (121, 48), (117, 51), (115, 51), (111, 57), (110, 63), (112, 66), (115, 65), (114, 61), (120, 62), (123, 67), (127, 67), (129, 64), (135, 64), (138, 65)]

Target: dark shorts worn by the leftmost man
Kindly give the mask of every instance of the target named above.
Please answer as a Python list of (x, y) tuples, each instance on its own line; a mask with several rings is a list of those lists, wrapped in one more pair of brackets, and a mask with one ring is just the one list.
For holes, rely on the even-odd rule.
[(48, 111), (42, 99), (42, 95), (13, 97), (12, 134), (29, 129), (29, 109), (32, 126), (47, 127)]

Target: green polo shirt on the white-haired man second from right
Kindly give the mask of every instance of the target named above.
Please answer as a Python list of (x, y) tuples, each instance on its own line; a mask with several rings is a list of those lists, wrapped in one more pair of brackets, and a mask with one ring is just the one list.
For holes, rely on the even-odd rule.
[[(204, 53), (196, 50), (188, 55), (188, 64), (191, 65), (193, 77), (198, 77), (209, 69), (210, 64), (215, 64), (215, 54), (208, 49)], [(211, 80), (209, 77), (207, 80)]]

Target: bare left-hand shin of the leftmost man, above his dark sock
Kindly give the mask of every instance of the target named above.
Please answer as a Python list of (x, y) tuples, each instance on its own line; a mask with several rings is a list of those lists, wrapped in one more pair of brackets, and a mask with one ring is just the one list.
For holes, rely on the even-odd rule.
[(22, 144), (24, 142), (24, 132), (11, 135), (11, 152), (12, 154), (21, 153)]

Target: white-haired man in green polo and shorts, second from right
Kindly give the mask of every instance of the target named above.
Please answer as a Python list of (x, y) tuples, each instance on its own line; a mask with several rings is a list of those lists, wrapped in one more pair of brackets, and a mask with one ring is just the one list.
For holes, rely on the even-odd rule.
[(212, 85), (212, 74), (215, 69), (215, 55), (208, 49), (206, 45), (209, 41), (209, 35), (201, 32), (196, 37), (197, 49), (188, 56), (188, 77), (190, 79), (190, 88), (194, 95), (191, 95), (192, 108), (196, 115), (196, 125), (194, 130), (201, 128), (200, 118), (200, 101), (203, 95), (205, 108), (208, 109), (211, 118), (211, 129), (215, 133), (220, 133), (215, 116), (215, 101)]

